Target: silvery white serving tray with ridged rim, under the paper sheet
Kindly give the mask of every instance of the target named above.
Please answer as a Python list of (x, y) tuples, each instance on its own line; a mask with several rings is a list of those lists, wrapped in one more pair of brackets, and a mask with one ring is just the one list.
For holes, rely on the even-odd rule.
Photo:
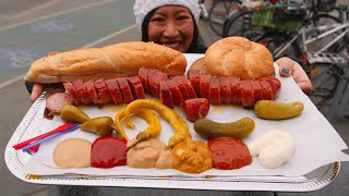
[[(186, 59), (197, 59), (202, 56), (186, 54)], [(192, 59), (193, 60), (193, 59)], [(88, 185), (88, 186), (124, 186), (124, 187), (156, 187), (156, 188), (188, 188), (188, 189), (219, 189), (219, 191), (275, 191), (275, 192), (309, 192), (320, 189), (332, 183), (338, 175), (340, 163), (323, 166), (302, 176), (279, 175), (234, 175), (234, 176), (131, 176), (108, 175), (92, 176), (82, 174), (63, 175), (31, 175), (24, 172), (24, 166), (31, 159), (29, 155), (12, 148), (13, 145), (33, 135), (28, 130), (36, 118), (39, 108), (46, 103), (46, 93), (31, 107), (17, 128), (13, 133), (5, 149), (5, 162), (9, 170), (19, 179), (36, 184)]]

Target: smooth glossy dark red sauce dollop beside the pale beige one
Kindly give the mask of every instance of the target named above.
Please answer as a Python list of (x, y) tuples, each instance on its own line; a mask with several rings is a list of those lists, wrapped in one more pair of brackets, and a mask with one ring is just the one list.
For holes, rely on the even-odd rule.
[(91, 166), (113, 168), (127, 164), (127, 140), (115, 136), (98, 137), (92, 145)]

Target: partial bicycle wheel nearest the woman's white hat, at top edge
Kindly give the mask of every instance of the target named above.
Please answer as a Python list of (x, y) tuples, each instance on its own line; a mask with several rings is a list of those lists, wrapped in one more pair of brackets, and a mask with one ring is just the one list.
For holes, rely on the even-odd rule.
[(222, 35), (226, 16), (237, 9), (238, 0), (216, 0), (208, 12), (208, 25), (218, 36)]

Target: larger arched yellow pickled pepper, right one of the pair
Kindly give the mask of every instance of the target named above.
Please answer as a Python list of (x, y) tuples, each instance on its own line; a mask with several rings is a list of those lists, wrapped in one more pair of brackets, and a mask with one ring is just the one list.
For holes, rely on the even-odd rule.
[(189, 135), (188, 124), (181, 117), (161, 102), (151, 99), (137, 99), (127, 106), (124, 111), (124, 122), (129, 127), (134, 127), (134, 124), (132, 124), (130, 121), (130, 113), (137, 108), (152, 109), (170, 123), (174, 130), (174, 135), (169, 139), (167, 148), (174, 147), (178, 143), (184, 140)]

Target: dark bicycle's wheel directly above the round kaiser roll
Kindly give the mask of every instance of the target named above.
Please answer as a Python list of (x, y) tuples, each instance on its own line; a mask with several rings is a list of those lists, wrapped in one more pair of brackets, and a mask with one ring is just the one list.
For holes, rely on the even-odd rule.
[(222, 37), (241, 36), (248, 39), (261, 36), (262, 27), (252, 25), (253, 11), (236, 12), (225, 22)]

